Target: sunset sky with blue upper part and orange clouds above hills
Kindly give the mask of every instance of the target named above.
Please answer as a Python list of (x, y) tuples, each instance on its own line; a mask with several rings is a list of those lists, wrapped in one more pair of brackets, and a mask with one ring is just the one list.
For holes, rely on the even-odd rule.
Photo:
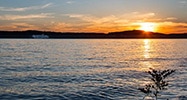
[(147, 27), (187, 32), (187, 0), (0, 0), (0, 30), (111, 32)]

